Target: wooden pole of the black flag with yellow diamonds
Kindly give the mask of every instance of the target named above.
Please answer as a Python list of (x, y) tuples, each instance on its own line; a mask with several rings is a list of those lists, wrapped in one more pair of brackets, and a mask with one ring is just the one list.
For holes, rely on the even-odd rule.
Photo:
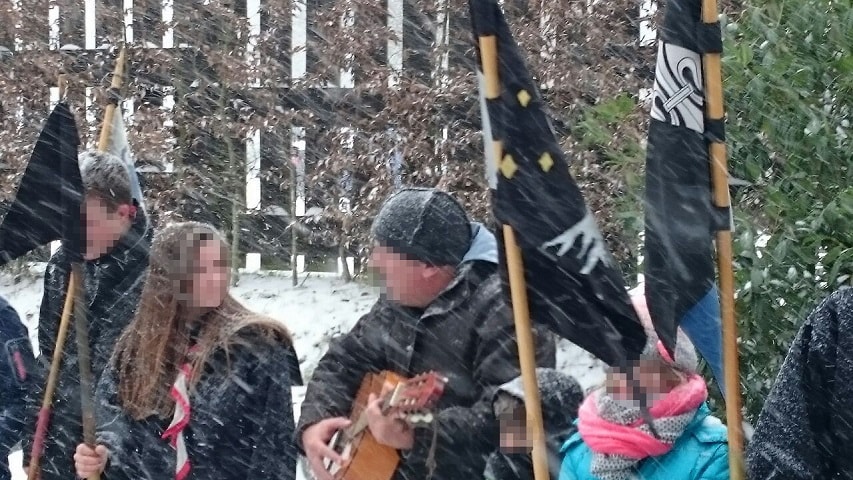
[[(479, 43), (480, 57), (483, 61), (483, 76), (485, 77), (485, 96), (487, 100), (493, 100), (500, 96), (497, 39), (493, 35), (482, 36), (479, 38)], [(489, 148), (489, 146), (485, 148)], [(495, 158), (501, 158), (500, 142), (492, 141), (491, 148), (495, 149)], [(512, 295), (512, 311), (515, 317), (515, 334), (518, 341), (518, 361), (521, 367), (521, 380), (524, 385), (527, 432), (533, 439), (533, 476), (536, 480), (547, 480), (549, 478), (547, 446), (545, 444), (545, 428), (542, 424), (539, 385), (536, 379), (536, 348), (530, 325), (530, 307), (527, 301), (527, 284), (524, 279), (524, 262), (521, 257), (521, 249), (515, 238), (515, 232), (511, 226), (503, 226), (503, 237), (509, 273), (509, 287)]]

